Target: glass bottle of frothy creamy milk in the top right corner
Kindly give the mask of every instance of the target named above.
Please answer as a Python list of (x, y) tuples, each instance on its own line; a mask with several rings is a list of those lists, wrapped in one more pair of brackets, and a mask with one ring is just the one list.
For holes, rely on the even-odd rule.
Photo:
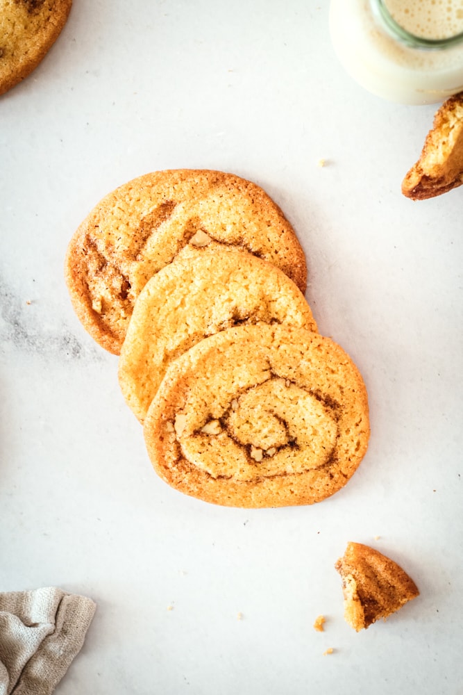
[(389, 101), (432, 104), (463, 90), (462, 0), (331, 0), (346, 71)]

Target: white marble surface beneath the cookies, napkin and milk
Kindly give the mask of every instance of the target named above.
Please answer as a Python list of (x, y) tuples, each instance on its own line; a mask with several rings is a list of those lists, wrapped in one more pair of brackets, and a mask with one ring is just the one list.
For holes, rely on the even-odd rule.
[[(0, 98), (0, 589), (98, 603), (58, 695), (463, 693), (463, 188), (400, 193), (434, 111), (357, 87), (313, 0), (74, 0)], [(367, 457), (330, 500), (246, 511), (171, 490), (117, 359), (74, 316), (74, 229), (171, 167), (252, 179), (301, 238), (319, 328), (371, 405)], [(421, 589), (359, 634), (333, 569), (348, 540)]]

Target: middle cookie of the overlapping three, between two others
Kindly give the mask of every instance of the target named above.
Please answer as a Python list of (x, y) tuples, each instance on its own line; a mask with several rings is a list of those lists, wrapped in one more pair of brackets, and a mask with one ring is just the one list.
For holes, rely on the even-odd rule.
[(121, 349), (119, 384), (142, 422), (169, 363), (199, 341), (243, 324), (317, 332), (308, 303), (276, 266), (222, 245), (187, 246), (137, 301)]

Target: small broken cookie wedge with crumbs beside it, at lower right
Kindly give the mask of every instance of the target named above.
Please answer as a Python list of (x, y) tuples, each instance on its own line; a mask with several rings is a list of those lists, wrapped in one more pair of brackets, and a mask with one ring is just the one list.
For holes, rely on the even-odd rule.
[(344, 618), (357, 632), (419, 596), (396, 562), (362, 543), (348, 543), (335, 569), (342, 576)]

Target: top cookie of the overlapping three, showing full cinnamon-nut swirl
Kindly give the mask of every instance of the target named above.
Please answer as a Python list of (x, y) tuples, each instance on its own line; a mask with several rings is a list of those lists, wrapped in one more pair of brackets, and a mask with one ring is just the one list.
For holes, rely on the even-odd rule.
[(144, 422), (165, 482), (233, 507), (319, 502), (367, 450), (367, 391), (330, 338), (288, 326), (239, 326), (171, 363)]

